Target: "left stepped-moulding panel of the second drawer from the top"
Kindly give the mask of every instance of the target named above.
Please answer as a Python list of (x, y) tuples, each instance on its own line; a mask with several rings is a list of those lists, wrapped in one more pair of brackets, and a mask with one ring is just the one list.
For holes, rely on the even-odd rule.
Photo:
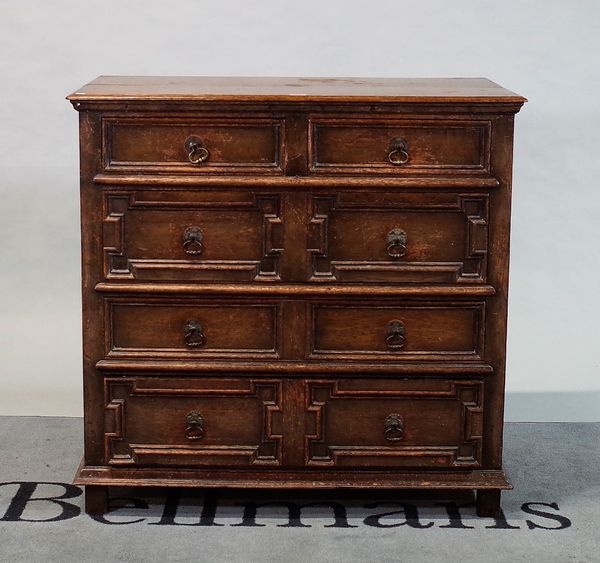
[(103, 197), (107, 279), (279, 279), (279, 194), (108, 189)]

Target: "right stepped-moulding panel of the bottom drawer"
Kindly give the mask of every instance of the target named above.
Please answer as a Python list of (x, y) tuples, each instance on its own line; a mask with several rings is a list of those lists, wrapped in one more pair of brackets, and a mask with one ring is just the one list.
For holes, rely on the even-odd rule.
[(309, 466), (480, 466), (481, 381), (307, 381), (305, 394)]

